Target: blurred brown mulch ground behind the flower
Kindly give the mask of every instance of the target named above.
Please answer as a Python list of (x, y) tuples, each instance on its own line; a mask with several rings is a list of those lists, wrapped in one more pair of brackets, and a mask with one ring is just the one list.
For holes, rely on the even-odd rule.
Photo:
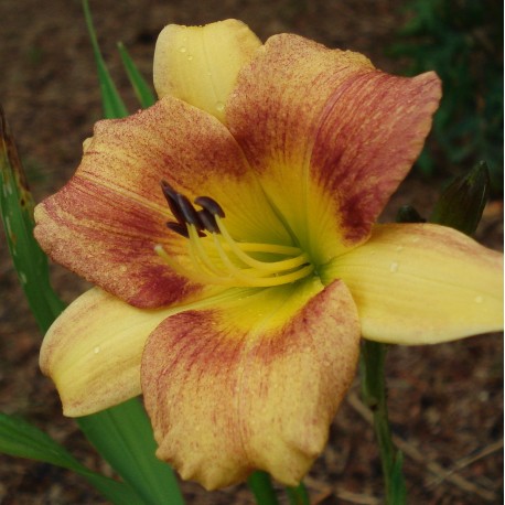
[[(331, 46), (366, 53), (383, 69), (400, 72), (384, 49), (405, 21), (399, 0), (92, 0), (104, 55), (130, 109), (137, 105), (121, 71), (121, 40), (146, 76), (160, 29), (225, 18), (247, 22), (264, 40), (296, 32)], [(37, 200), (60, 187), (78, 164), (82, 141), (99, 119), (95, 64), (80, 2), (0, 2), (0, 101), (11, 122)], [(389, 205), (413, 203), (428, 214), (439, 181), (411, 178)], [(503, 244), (503, 204), (492, 202), (477, 237)], [(0, 235), (0, 411), (19, 413), (61, 441), (82, 462), (112, 475), (89, 449), (74, 421), (61, 413), (57, 395), (39, 372), (42, 335), (28, 310)], [(54, 267), (66, 300), (85, 284)], [(451, 344), (393, 347), (387, 362), (390, 419), (405, 453), (412, 504), (502, 503), (503, 340), (483, 335)], [(330, 443), (307, 477), (314, 504), (379, 504), (380, 463), (369, 417), (352, 387), (332, 426)], [(245, 486), (206, 493), (182, 483), (189, 504), (253, 504)], [(0, 503), (101, 504), (80, 477), (49, 464), (0, 454)], [(284, 502), (286, 503), (286, 502)]]

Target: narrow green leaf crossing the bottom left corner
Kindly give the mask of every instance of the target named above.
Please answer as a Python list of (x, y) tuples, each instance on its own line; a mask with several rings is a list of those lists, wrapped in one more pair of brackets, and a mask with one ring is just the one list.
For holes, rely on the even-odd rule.
[(131, 487), (87, 469), (65, 448), (22, 418), (0, 413), (0, 452), (72, 470), (118, 505), (144, 503)]

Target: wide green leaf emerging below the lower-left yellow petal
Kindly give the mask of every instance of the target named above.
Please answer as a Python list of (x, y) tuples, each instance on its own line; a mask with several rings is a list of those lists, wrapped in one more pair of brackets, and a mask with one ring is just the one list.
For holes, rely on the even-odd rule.
[(87, 439), (149, 504), (182, 505), (172, 469), (154, 455), (157, 444), (141, 404), (131, 399), (77, 419)]

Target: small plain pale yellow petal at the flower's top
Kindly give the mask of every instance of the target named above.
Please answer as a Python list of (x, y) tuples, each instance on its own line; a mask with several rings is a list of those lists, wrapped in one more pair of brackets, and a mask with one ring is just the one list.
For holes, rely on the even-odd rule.
[(225, 103), (240, 68), (261, 45), (246, 24), (226, 20), (205, 26), (169, 24), (154, 52), (154, 87), (224, 120)]

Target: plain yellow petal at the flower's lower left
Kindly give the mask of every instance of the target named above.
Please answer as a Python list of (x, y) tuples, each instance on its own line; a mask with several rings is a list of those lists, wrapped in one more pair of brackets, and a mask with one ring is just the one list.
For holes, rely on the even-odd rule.
[(98, 288), (75, 300), (50, 327), (40, 356), (65, 416), (86, 416), (139, 395), (146, 340), (171, 312), (136, 309)]

